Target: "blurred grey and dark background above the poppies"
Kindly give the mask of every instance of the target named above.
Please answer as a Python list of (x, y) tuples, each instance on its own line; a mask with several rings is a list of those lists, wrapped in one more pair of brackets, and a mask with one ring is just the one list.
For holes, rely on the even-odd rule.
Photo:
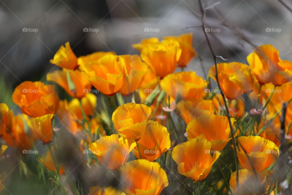
[[(207, 27), (217, 29), (208, 32), (215, 55), (247, 63), (255, 46), (273, 44), (281, 59), (292, 60), (292, 13), (280, 1), (202, 2)], [(291, 1), (284, 2), (292, 7)], [(11, 98), (14, 88), (26, 80), (48, 83), (47, 73), (60, 69), (49, 61), (67, 41), (77, 56), (111, 50), (138, 54), (132, 44), (143, 38), (193, 32), (193, 47), (203, 62), (195, 58), (185, 70), (204, 76), (213, 59), (202, 29), (196, 27), (200, 16), (197, 0), (0, 0), (0, 102), (19, 112)], [(56, 88), (60, 99), (68, 98)]]

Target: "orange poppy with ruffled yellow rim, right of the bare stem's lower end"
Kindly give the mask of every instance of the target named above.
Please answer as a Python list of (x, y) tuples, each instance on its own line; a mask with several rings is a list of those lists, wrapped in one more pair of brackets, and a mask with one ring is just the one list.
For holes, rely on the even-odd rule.
[[(259, 136), (238, 137), (239, 150), (237, 148), (238, 161), (242, 168), (263, 171), (272, 165), (279, 157), (279, 148), (270, 140)], [(246, 156), (244, 150), (246, 151)], [(249, 161), (252, 161), (252, 165)]]

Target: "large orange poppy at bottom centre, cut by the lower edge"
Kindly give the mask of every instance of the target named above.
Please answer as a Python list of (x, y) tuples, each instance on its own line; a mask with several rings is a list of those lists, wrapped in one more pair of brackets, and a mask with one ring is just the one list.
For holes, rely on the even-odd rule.
[(120, 167), (120, 173), (128, 195), (158, 195), (168, 186), (166, 173), (157, 162), (130, 161)]

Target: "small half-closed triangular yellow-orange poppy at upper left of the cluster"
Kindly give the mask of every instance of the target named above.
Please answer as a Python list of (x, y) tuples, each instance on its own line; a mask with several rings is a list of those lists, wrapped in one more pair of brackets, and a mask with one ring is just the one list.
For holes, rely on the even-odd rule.
[(54, 59), (51, 59), (50, 62), (65, 69), (75, 70), (78, 68), (77, 57), (72, 51), (69, 42), (65, 43), (65, 47), (61, 45), (54, 55)]

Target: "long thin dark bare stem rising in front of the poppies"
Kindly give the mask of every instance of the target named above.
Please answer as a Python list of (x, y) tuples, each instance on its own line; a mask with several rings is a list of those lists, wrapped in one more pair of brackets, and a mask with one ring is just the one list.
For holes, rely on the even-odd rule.
[(204, 35), (206, 37), (208, 47), (210, 49), (210, 52), (211, 52), (212, 57), (213, 57), (213, 60), (214, 60), (215, 70), (216, 70), (216, 74), (215, 74), (216, 82), (217, 82), (218, 89), (220, 90), (221, 96), (222, 96), (223, 101), (224, 101), (224, 105), (225, 105), (225, 109), (226, 109), (226, 115), (228, 117), (228, 122), (229, 122), (229, 126), (230, 126), (231, 140), (232, 140), (232, 144), (234, 146), (233, 149), (234, 149), (235, 167), (236, 167), (236, 186), (239, 187), (238, 156), (237, 156), (237, 151), (236, 151), (236, 147), (235, 147), (235, 138), (234, 138), (234, 132), (233, 132), (232, 123), (231, 123), (231, 119), (230, 119), (229, 109), (228, 109), (228, 105), (227, 105), (227, 102), (226, 102), (226, 99), (225, 99), (225, 95), (224, 95), (224, 93), (223, 93), (223, 91), (221, 89), (220, 82), (219, 82), (219, 78), (218, 78), (218, 69), (217, 69), (217, 61), (216, 61), (216, 58), (217, 57), (214, 54), (214, 51), (213, 51), (212, 46), (210, 44), (210, 40), (209, 40), (209, 38), (207, 36), (207, 33), (205, 31), (205, 16), (206, 16), (206, 11), (203, 8), (203, 4), (202, 4), (201, 0), (198, 0), (198, 1), (199, 1), (199, 5), (200, 5), (200, 10), (201, 10), (202, 30), (203, 30), (203, 33), (204, 33)]

